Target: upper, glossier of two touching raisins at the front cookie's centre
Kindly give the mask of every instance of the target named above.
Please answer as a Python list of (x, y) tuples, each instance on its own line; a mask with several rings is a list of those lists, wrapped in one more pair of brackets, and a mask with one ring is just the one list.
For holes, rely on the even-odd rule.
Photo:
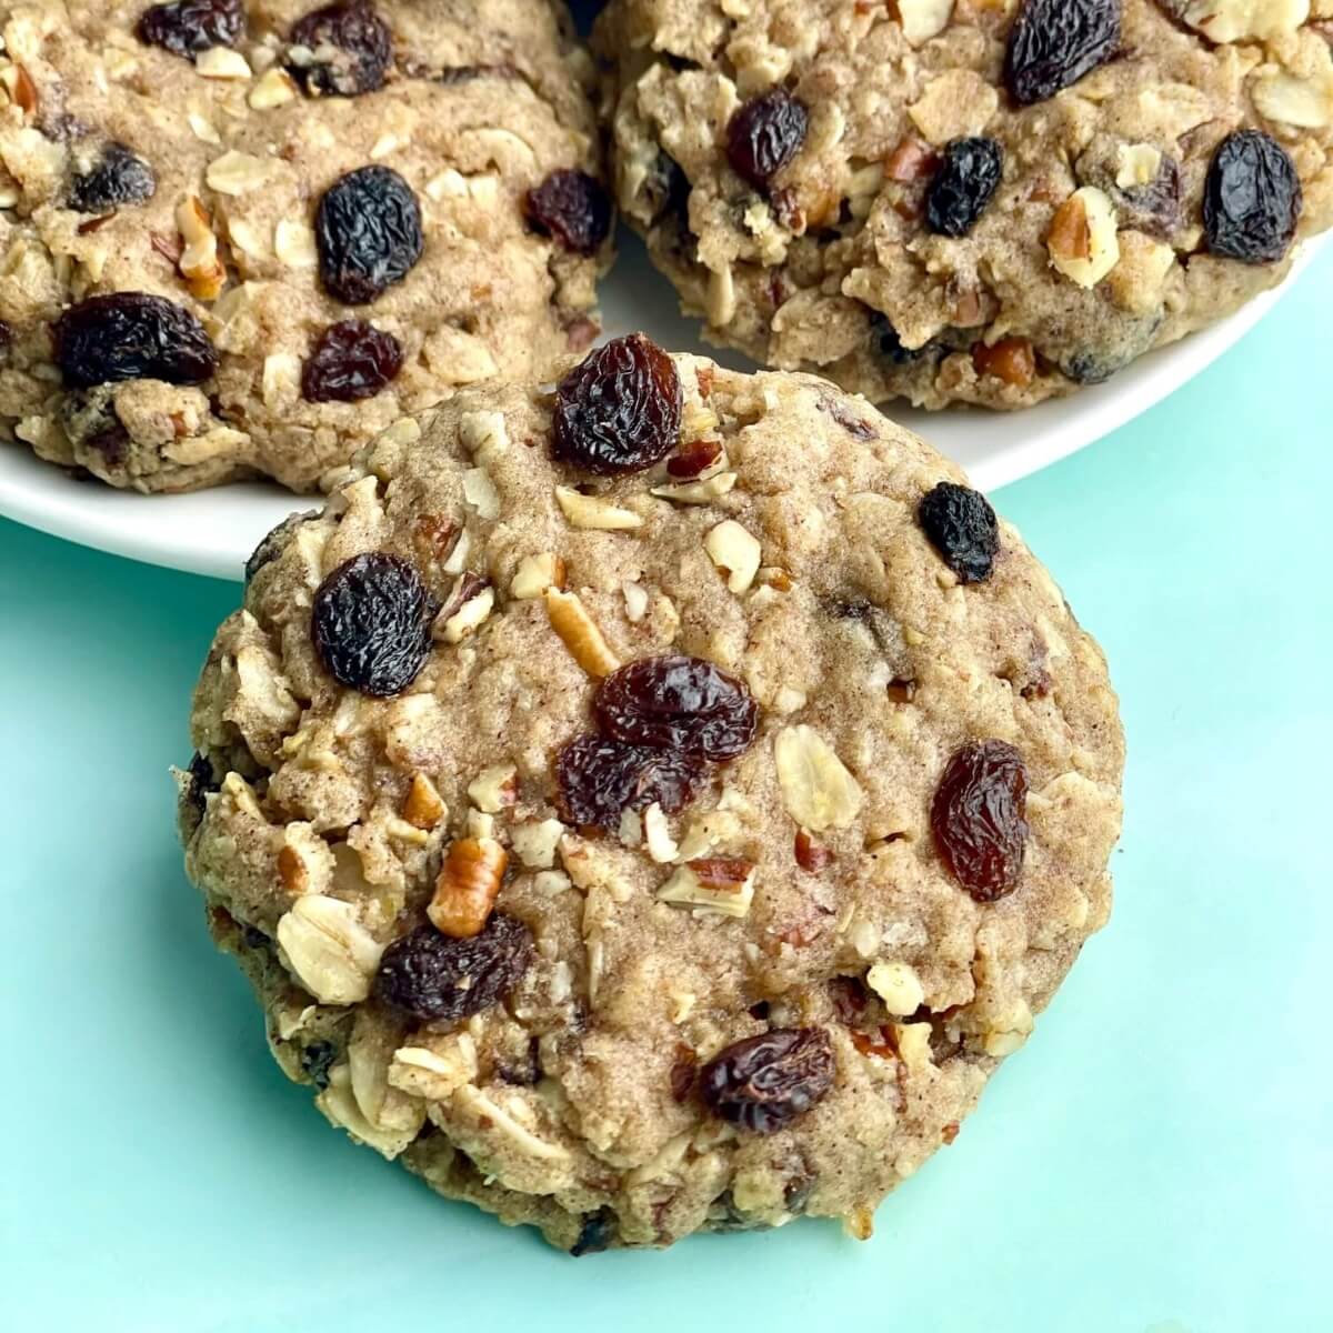
[(640, 657), (601, 682), (593, 709), (617, 741), (714, 764), (744, 754), (758, 724), (749, 690), (701, 657)]

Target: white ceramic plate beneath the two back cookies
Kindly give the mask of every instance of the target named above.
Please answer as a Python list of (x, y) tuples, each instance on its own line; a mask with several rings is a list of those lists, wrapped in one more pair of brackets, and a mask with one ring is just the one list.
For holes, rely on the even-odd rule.
[[(607, 335), (643, 329), (672, 351), (704, 352), (737, 368), (745, 360), (704, 347), (696, 325), (677, 313), (676, 297), (640, 241), (620, 236), (620, 260), (603, 287)], [(1316, 245), (1308, 245), (1296, 280)], [(1153, 352), (1113, 380), (1022, 413), (968, 409), (893, 416), (961, 463), (984, 491), (1016, 481), (1124, 425), (1245, 336), (1284, 288), (1261, 296), (1222, 324)], [(43, 532), (133, 560), (219, 579), (240, 579), (259, 540), (293, 509), (319, 501), (277, 487), (220, 487), (183, 496), (140, 496), (96, 481), (75, 481), (24, 447), (0, 445), (0, 513)]]

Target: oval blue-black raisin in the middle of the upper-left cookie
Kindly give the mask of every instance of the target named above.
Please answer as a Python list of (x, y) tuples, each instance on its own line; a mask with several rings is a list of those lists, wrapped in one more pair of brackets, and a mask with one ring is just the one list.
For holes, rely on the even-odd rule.
[(365, 305), (401, 283), (421, 257), (421, 205), (389, 167), (361, 167), (331, 185), (315, 216), (324, 285)]

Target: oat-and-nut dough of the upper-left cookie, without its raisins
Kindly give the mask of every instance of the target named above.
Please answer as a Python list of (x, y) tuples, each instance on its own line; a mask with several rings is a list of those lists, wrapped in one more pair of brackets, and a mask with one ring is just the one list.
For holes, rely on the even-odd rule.
[[(139, 40), (144, 0), (0, 4), (11, 440), (140, 491), (256, 473), (309, 491), (400, 416), (488, 376), (549, 375), (587, 345), (605, 249), (565, 249), (524, 207), (553, 171), (599, 171), (591, 61), (564, 7), (375, 0), (364, 8), (392, 29), (393, 64), (360, 96), (308, 95), (288, 72), (329, 59), (289, 41), (320, 8), (245, 0), (235, 47), (192, 61)], [(152, 196), (69, 207), (111, 145), (147, 164)], [(348, 305), (320, 280), (313, 225), (324, 192), (369, 165), (408, 183), (425, 245), (403, 281)], [(188, 309), (217, 349), (216, 373), (67, 385), (52, 325), (111, 292)], [(304, 364), (344, 320), (397, 339), (401, 371), (363, 401), (308, 401)]]

